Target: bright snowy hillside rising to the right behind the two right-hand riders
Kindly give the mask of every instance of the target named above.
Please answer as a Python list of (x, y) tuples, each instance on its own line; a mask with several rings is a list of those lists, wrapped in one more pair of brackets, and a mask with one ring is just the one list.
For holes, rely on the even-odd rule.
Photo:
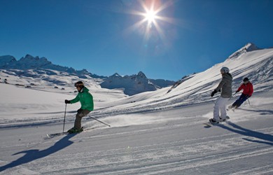
[[(248, 77), (253, 83), (255, 92), (270, 91), (273, 89), (273, 49), (253, 50), (244, 52), (236, 59), (229, 57), (225, 62), (212, 66), (207, 71), (196, 73), (182, 83), (174, 87), (165, 87), (155, 92), (144, 92), (116, 102), (115, 109), (109, 108), (113, 113), (124, 111), (134, 102), (127, 111), (157, 111), (177, 106), (211, 102), (219, 95), (211, 99), (211, 92), (221, 80), (221, 67), (227, 66), (233, 76), (232, 91), (235, 93), (244, 77)], [(104, 109), (106, 113), (106, 109)]]

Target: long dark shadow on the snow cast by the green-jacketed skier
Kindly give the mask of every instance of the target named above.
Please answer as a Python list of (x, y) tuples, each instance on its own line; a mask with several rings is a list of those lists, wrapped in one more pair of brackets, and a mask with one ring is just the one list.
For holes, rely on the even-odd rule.
[(18, 155), (21, 153), (25, 153), (21, 158), (18, 158), (18, 160), (14, 160), (13, 162), (10, 162), (8, 165), (4, 165), (3, 167), (0, 167), (0, 172), (3, 172), (6, 169), (17, 167), (19, 165), (23, 165), (25, 163), (38, 160), (40, 158), (45, 158), (46, 156), (56, 153), (57, 151), (60, 151), (68, 146), (71, 146), (73, 144), (73, 141), (70, 141), (72, 137), (74, 137), (76, 134), (68, 134), (66, 137), (60, 139), (57, 141), (53, 146), (50, 146), (50, 148), (47, 148), (45, 150), (39, 151), (37, 149), (33, 150), (27, 150), (27, 151), (21, 151), (19, 153), (15, 153), (13, 155)]

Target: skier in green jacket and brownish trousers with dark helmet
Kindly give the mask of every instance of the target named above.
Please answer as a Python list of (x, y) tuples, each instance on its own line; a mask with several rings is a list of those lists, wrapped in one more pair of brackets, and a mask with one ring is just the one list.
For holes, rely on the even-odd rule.
[(65, 100), (65, 104), (74, 104), (78, 101), (80, 101), (81, 107), (78, 109), (78, 113), (76, 114), (76, 120), (74, 123), (74, 127), (72, 127), (70, 130), (68, 130), (69, 133), (76, 133), (76, 132), (82, 132), (83, 128), (81, 127), (81, 119), (86, 116), (88, 113), (93, 111), (94, 109), (94, 102), (93, 97), (87, 87), (84, 86), (82, 81), (78, 81), (75, 83), (75, 87), (78, 90), (78, 95), (75, 99), (71, 100)]

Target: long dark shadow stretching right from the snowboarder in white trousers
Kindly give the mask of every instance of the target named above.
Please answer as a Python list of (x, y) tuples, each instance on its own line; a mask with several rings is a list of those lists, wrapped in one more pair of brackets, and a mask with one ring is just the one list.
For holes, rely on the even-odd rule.
[(267, 144), (270, 146), (273, 146), (273, 136), (270, 134), (263, 134), (262, 132), (255, 132), (253, 130), (248, 130), (244, 127), (240, 127), (239, 125), (236, 125), (235, 123), (232, 122), (228, 122), (228, 125), (232, 126), (232, 127), (228, 127), (226, 125), (217, 125), (218, 127), (222, 127), (225, 130), (229, 130), (231, 132), (235, 132), (247, 137), (255, 137), (256, 139), (260, 139), (262, 141), (259, 140), (252, 140), (252, 139), (246, 139), (243, 138), (246, 141), (252, 141), (252, 142), (256, 142), (259, 144)]

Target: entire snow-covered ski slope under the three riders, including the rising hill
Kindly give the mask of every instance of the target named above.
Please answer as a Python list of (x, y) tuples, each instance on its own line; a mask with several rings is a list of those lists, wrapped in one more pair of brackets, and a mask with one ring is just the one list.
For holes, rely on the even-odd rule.
[[(236, 56), (171, 91), (127, 97), (91, 90), (90, 116), (111, 127), (87, 116), (85, 132), (52, 139), (45, 136), (62, 132), (64, 99), (76, 94), (0, 83), (0, 174), (273, 174), (273, 49)], [(234, 77), (233, 92), (244, 76), (255, 92), (228, 111), (228, 122), (206, 127), (222, 66)], [(66, 107), (68, 130), (80, 104)]]

